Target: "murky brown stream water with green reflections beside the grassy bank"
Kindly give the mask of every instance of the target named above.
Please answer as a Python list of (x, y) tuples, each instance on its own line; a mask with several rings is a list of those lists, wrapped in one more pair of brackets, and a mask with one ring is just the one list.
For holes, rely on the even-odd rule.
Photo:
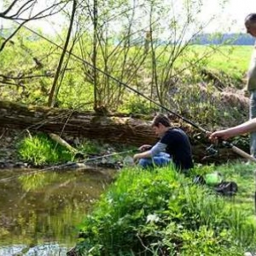
[[(0, 180), (27, 171), (1, 170)], [(113, 170), (36, 172), (0, 181), (0, 256), (66, 255)]]

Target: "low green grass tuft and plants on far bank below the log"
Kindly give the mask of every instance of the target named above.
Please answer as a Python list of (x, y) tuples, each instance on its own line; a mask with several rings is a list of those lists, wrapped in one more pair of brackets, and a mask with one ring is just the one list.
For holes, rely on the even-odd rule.
[(89, 160), (96, 155), (96, 160), (99, 158), (98, 161), (102, 162), (104, 157), (101, 158), (101, 155), (109, 154), (113, 155), (108, 157), (107, 162), (116, 163), (123, 160), (123, 155), (119, 153), (135, 150), (135, 147), (132, 146), (110, 145), (101, 141), (86, 139), (76, 145), (77, 151), (74, 152), (56, 143), (44, 133), (23, 137), (18, 141), (16, 147), (20, 160), (38, 167), (77, 161), (81, 156), (84, 160), (87, 157)]

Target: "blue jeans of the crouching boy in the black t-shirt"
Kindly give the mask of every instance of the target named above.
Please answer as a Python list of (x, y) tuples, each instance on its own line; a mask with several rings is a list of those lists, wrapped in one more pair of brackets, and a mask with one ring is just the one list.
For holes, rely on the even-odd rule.
[(143, 158), (140, 159), (138, 164), (143, 168), (153, 167), (153, 166), (166, 166), (172, 161), (169, 154), (160, 152), (160, 154), (154, 155), (153, 158)]

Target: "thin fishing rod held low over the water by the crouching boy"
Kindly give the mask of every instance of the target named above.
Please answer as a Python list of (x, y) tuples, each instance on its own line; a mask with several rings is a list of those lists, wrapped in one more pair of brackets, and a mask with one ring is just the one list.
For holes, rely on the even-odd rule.
[(34, 174), (34, 173), (46, 172), (46, 171), (58, 171), (58, 170), (61, 170), (61, 168), (66, 167), (66, 166), (74, 166), (74, 165), (80, 164), (80, 163), (85, 164), (85, 163), (90, 162), (90, 161), (100, 160), (100, 159), (107, 158), (107, 157), (114, 156), (114, 155), (118, 155), (118, 154), (134, 153), (134, 152), (137, 152), (137, 151), (139, 151), (138, 148), (131, 149), (131, 150), (125, 150), (125, 151), (122, 151), (122, 152), (116, 152), (116, 153), (113, 153), (113, 154), (104, 154), (104, 155), (96, 156), (96, 157), (93, 157), (93, 158), (89, 158), (89, 159), (85, 159), (85, 160), (79, 160), (79, 161), (75, 161), (75, 162), (70, 162), (70, 163), (66, 163), (66, 164), (62, 164), (62, 165), (58, 165), (58, 166), (50, 166), (50, 167), (46, 167), (46, 168), (40, 169), (40, 170), (35, 170), (35, 171), (32, 171), (32, 172), (21, 173), (21, 174), (14, 175), (14, 176), (11, 176), (11, 177), (4, 177), (4, 178), (0, 179), (0, 183), (9, 181), (9, 180), (11, 180), (13, 178), (16, 178), (16, 177), (21, 177), (23, 175), (31, 175), (31, 174)]

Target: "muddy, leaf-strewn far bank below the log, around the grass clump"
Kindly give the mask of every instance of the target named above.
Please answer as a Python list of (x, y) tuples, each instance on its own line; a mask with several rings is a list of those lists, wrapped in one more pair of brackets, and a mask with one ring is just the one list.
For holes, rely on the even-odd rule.
[[(119, 169), (124, 165), (123, 159), (125, 158), (125, 155), (129, 154), (129, 150), (124, 150), (123, 146), (98, 142), (90, 142), (89, 145), (89, 140), (82, 137), (70, 137), (63, 135), (62, 138), (67, 143), (70, 143), (74, 148), (82, 148), (84, 152), (73, 154), (71, 160), (62, 160), (61, 162), (54, 162), (51, 164), (35, 165), (30, 161), (21, 160), (18, 145), (25, 137), (34, 137), (37, 135), (37, 132), (30, 133), (30, 131), (1, 128), (0, 169), (49, 168), (51, 170), (61, 171), (70, 169), (86, 170), (88, 168), (90, 169), (91, 166)], [(123, 151), (126, 154), (122, 154)], [(38, 148), (38, 154), (39, 153)]]

